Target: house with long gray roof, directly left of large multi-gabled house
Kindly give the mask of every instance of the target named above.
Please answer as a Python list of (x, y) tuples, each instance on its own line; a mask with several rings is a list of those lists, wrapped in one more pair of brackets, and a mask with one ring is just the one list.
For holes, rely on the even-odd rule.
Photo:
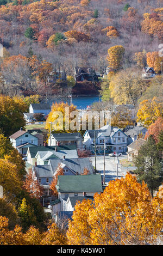
[(83, 137), (79, 132), (52, 133), (48, 145), (76, 145), (78, 149), (83, 149)]

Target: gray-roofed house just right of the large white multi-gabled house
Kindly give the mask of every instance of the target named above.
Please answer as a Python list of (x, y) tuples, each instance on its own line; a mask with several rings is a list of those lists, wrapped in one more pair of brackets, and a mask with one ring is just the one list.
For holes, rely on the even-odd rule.
[(128, 125), (123, 129), (123, 132), (127, 135), (127, 146), (130, 145), (132, 142), (136, 141), (140, 136), (142, 138), (145, 137), (147, 129), (142, 125), (135, 126)]

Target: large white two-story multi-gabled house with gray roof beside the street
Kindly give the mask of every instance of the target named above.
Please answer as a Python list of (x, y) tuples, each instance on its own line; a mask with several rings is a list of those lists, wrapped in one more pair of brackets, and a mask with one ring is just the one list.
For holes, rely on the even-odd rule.
[(126, 153), (127, 135), (118, 127), (105, 125), (99, 130), (86, 130), (84, 133), (84, 148), (101, 153), (104, 150), (104, 144), (108, 153), (114, 151)]

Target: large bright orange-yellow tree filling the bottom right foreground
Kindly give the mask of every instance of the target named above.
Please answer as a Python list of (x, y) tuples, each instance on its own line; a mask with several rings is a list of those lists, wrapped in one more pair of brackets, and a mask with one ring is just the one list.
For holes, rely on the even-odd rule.
[(76, 204), (67, 239), (69, 245), (155, 244), (162, 224), (161, 203), (144, 182), (127, 174), (110, 181), (93, 202)]

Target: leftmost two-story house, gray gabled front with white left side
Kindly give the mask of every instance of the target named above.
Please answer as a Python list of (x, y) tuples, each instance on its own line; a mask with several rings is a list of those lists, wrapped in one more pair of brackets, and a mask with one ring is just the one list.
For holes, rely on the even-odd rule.
[(16, 148), (22, 155), (27, 154), (29, 147), (36, 147), (38, 145), (38, 138), (22, 128), (9, 136), (12, 147)]

